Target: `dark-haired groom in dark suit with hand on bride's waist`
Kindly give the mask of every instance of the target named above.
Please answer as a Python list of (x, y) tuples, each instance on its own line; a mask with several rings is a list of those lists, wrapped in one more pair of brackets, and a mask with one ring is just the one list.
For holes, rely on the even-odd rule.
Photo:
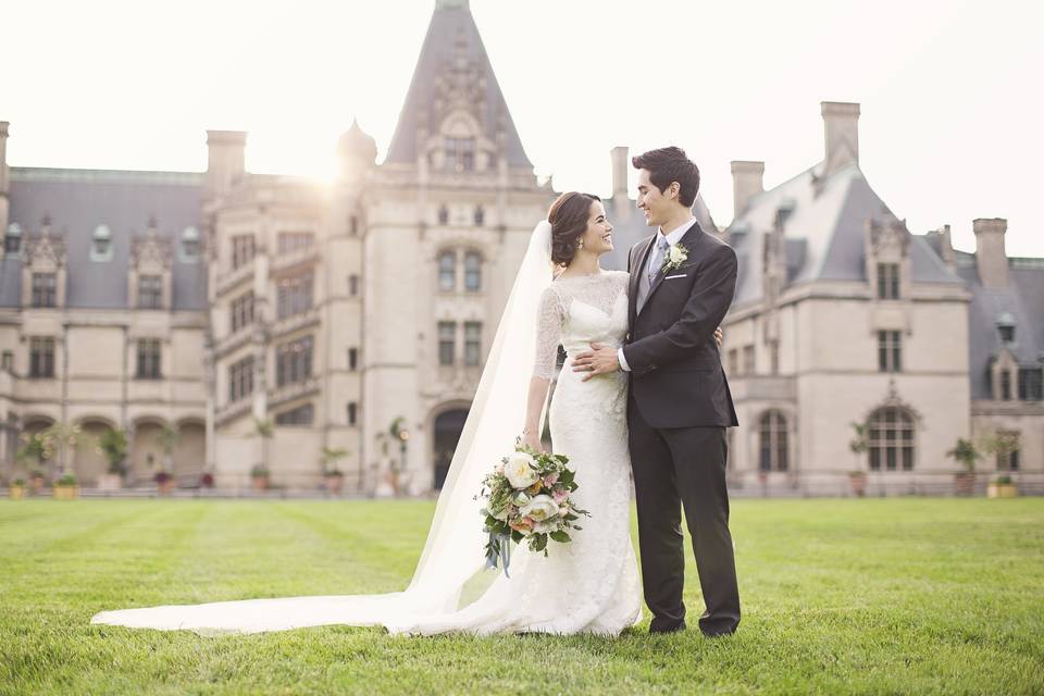
[(713, 333), (736, 288), (736, 254), (693, 216), (699, 170), (684, 150), (651, 150), (631, 162), (639, 170), (638, 208), (659, 231), (627, 258), (625, 345), (593, 344), (573, 370), (588, 373), (585, 381), (616, 370), (631, 373), (627, 427), (649, 631), (685, 627), (684, 507), (707, 607), (699, 630), (726, 635), (739, 623), (739, 591), (729, 533), (725, 427), (738, 423)]

